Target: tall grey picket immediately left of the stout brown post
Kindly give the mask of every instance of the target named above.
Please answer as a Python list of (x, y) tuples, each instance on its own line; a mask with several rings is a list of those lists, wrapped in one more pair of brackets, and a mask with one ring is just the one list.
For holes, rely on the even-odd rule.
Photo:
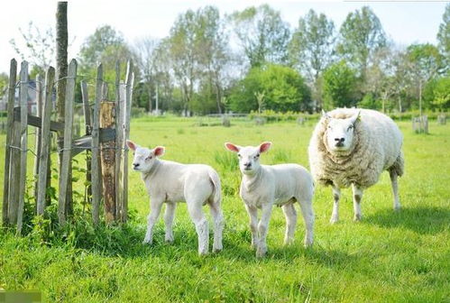
[(92, 116), (92, 221), (98, 225), (100, 218), (98, 209), (100, 208), (101, 185), (100, 185), (100, 166), (99, 166), (99, 128), (100, 128), (100, 101), (102, 99), (103, 86), (103, 67), (100, 63), (96, 69), (96, 103)]

